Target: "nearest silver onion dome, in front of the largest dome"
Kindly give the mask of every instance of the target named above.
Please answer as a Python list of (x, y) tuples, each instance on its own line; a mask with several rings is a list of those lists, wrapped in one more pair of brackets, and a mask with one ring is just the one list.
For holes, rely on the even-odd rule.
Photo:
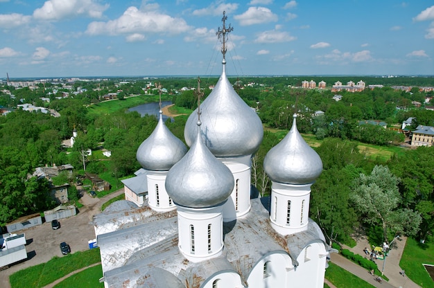
[[(200, 127), (196, 129), (199, 134)], [(168, 171), (166, 191), (180, 206), (216, 206), (231, 195), (234, 177), (229, 168), (209, 152), (202, 138), (195, 138), (189, 152)]]

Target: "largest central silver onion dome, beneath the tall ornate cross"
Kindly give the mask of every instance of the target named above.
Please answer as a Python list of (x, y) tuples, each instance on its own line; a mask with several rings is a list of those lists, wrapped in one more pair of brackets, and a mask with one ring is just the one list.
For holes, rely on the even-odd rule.
[[(225, 64), (216, 87), (200, 108), (201, 134), (214, 156), (247, 156), (259, 149), (263, 137), (261, 119), (227, 80)], [(185, 125), (184, 138), (189, 146), (196, 138), (196, 119), (193, 112)]]

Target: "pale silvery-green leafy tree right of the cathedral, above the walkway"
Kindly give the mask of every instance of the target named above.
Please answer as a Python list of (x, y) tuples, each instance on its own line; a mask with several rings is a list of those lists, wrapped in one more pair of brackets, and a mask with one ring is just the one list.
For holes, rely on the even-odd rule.
[(365, 222), (381, 226), (385, 243), (390, 243), (390, 235), (394, 237), (397, 233), (416, 235), (422, 221), (419, 213), (399, 208), (398, 183), (399, 179), (387, 166), (376, 165), (370, 175), (361, 173), (356, 178), (350, 196)]

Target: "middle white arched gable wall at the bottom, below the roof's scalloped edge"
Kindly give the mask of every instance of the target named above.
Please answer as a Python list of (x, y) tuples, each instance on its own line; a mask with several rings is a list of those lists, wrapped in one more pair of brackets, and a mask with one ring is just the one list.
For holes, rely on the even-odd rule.
[[(266, 266), (264, 266), (266, 265)], [(284, 251), (275, 251), (265, 255), (254, 265), (248, 276), (249, 288), (290, 287), (288, 286), (288, 271), (294, 267), (289, 255)], [(309, 287), (309, 286), (291, 286)]]

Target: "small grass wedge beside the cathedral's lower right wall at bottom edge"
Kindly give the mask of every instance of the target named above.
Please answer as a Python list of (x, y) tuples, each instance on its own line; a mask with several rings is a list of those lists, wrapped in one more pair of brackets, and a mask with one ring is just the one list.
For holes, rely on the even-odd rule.
[(338, 265), (329, 262), (329, 268), (326, 269), (325, 278), (338, 288), (369, 288), (374, 287), (370, 283), (354, 276), (347, 270), (340, 268)]

